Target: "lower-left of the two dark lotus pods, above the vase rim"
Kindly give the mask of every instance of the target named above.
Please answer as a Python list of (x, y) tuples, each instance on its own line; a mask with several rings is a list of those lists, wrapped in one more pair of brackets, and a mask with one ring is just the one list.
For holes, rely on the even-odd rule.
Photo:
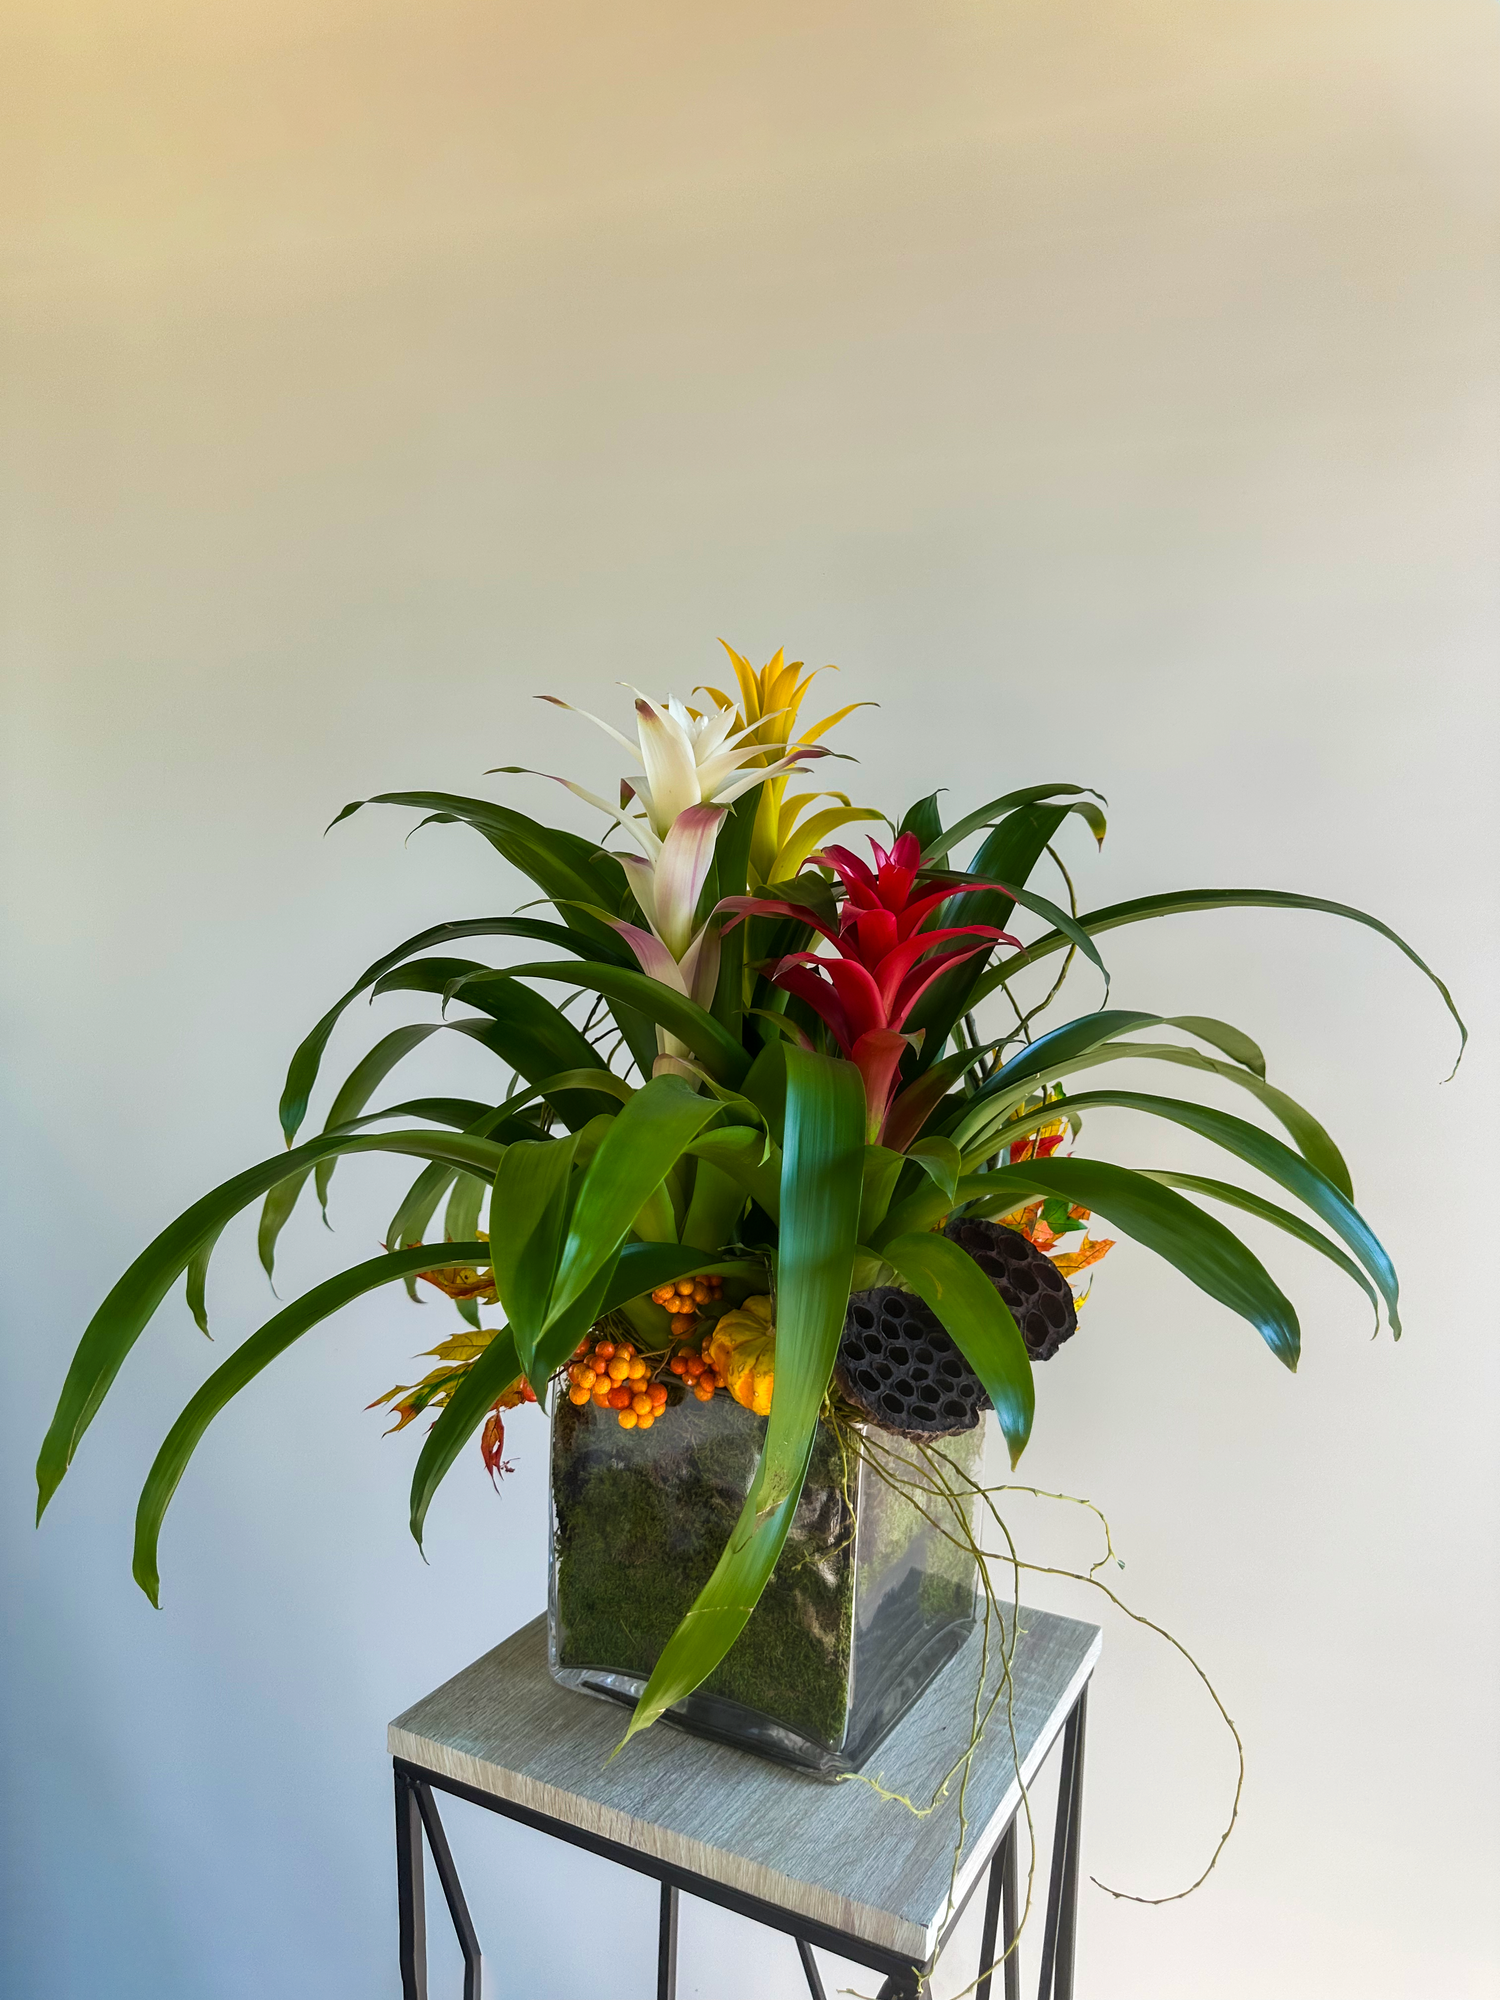
[(834, 1380), (872, 1424), (902, 1438), (956, 1438), (990, 1408), (938, 1314), (894, 1284), (850, 1298)]

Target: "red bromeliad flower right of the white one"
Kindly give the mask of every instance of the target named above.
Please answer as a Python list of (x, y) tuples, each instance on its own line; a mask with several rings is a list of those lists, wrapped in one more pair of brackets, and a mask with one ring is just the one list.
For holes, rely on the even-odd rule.
[[(732, 910), (732, 928), (742, 916), (794, 916), (812, 924), (834, 946), (836, 956), (790, 952), (772, 972), (786, 992), (798, 994), (822, 1016), (840, 1050), (864, 1078), (870, 1106), (868, 1136), (880, 1138), (896, 1094), (900, 1060), (914, 1036), (902, 1024), (928, 986), (992, 944), (1020, 944), (994, 924), (960, 924), (924, 930), (928, 918), (950, 896), (988, 888), (988, 882), (948, 882), (916, 896), (922, 848), (916, 834), (898, 834), (890, 852), (870, 842), (874, 868), (848, 848), (824, 848), (814, 862), (832, 868), (844, 884), (838, 926), (816, 910), (772, 896), (728, 896), (720, 908)], [(976, 938), (976, 944), (954, 940)]]

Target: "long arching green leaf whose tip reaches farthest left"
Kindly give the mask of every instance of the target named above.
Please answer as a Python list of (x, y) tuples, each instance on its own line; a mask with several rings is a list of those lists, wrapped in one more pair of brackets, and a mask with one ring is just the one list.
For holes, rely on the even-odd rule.
[(214, 1242), (232, 1216), (260, 1200), (278, 1180), (316, 1166), (332, 1152), (416, 1154), (420, 1160), (446, 1160), (486, 1176), (494, 1174), (502, 1156), (494, 1140), (470, 1138), (464, 1132), (334, 1132), (246, 1168), (186, 1208), (142, 1250), (84, 1328), (36, 1460), (38, 1520), (72, 1464), (78, 1440), (88, 1430), (120, 1364), (192, 1258)]

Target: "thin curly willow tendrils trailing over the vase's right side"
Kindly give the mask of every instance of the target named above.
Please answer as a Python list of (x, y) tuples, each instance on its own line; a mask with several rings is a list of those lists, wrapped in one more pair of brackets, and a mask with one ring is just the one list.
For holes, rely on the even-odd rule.
[[(1028, 1854), (1030, 1854), (1026, 1868), (1026, 1900), (1022, 1906), (1016, 1936), (1006, 1948), (1006, 1952), (1002, 1952), (1002, 1956), (996, 1958), (994, 1964), (982, 1966), (976, 1978), (968, 1986), (964, 1986), (962, 1992), (954, 1996), (954, 2000), (966, 2000), (966, 1996), (976, 1990), (980, 1980), (994, 1974), (996, 1968), (1002, 1966), (1004, 1960), (1010, 1956), (1010, 1952), (1018, 1948), (1034, 1900), (1036, 1822), (1032, 1816), (1030, 1788), (1026, 1784), (1026, 1778), (1022, 1776), (1020, 1744), (1016, 1738), (1016, 1684), (1012, 1674), (1016, 1644), (1020, 1638), (1022, 1572), (1030, 1572), (1032, 1576), (1058, 1576), (1064, 1578), (1066, 1582), (1086, 1584), (1088, 1588), (1102, 1592), (1110, 1600), (1110, 1604), (1116, 1606), (1116, 1610), (1124, 1612), (1126, 1618), (1130, 1618), (1134, 1624), (1144, 1626), (1148, 1632), (1154, 1632), (1158, 1638), (1164, 1638), (1168, 1646), (1172, 1646), (1178, 1654), (1182, 1654), (1182, 1658), (1188, 1662), (1188, 1666), (1194, 1670), (1198, 1680), (1208, 1690), (1208, 1698), (1212, 1700), (1214, 1708), (1222, 1716), (1224, 1726), (1228, 1728), (1230, 1738), (1234, 1740), (1238, 1774), (1236, 1774), (1234, 1800), (1230, 1806), (1228, 1822), (1224, 1826), (1224, 1832), (1218, 1836), (1214, 1852), (1208, 1858), (1208, 1864), (1202, 1870), (1202, 1874), (1198, 1874), (1198, 1878), (1190, 1882), (1186, 1888), (1174, 1890), (1168, 1896), (1138, 1896), (1130, 1890), (1112, 1888), (1098, 1876), (1090, 1876), (1090, 1882), (1094, 1882), (1096, 1888), (1104, 1890), (1106, 1896), (1116, 1898), (1116, 1902), (1138, 1902), (1148, 1906), (1160, 1906), (1168, 1902), (1180, 1902), (1184, 1896), (1192, 1896), (1194, 1890), (1202, 1888), (1202, 1884), (1218, 1866), (1218, 1858), (1224, 1852), (1224, 1846), (1228, 1844), (1228, 1838), (1238, 1822), (1240, 1798), (1244, 1794), (1244, 1742), (1240, 1738), (1238, 1728), (1234, 1726), (1230, 1712), (1224, 1708), (1224, 1702), (1220, 1700), (1214, 1684), (1210, 1682), (1208, 1674), (1202, 1670), (1198, 1660), (1194, 1660), (1194, 1656), (1188, 1652), (1188, 1648), (1178, 1638), (1174, 1638), (1174, 1634), (1168, 1632), (1164, 1626), (1156, 1624), (1152, 1618), (1146, 1618), (1142, 1612), (1132, 1610), (1118, 1596), (1118, 1592), (1114, 1592), (1106, 1582), (1100, 1580), (1098, 1572), (1108, 1568), (1110, 1564), (1114, 1564), (1116, 1568), (1124, 1568), (1124, 1562), (1116, 1554), (1114, 1534), (1110, 1530), (1110, 1522), (1102, 1512), (1102, 1508), (1098, 1508), (1092, 1500), (1080, 1498), (1078, 1494), (1052, 1492), (1042, 1486), (1018, 1486), (1012, 1482), (1000, 1482), (988, 1486), (976, 1480), (952, 1458), (948, 1458), (946, 1452), (934, 1450), (920, 1442), (912, 1442), (910, 1450), (922, 1462), (922, 1474), (918, 1476), (914, 1474), (912, 1460), (902, 1452), (894, 1450), (878, 1432), (868, 1428), (856, 1428), (848, 1424), (834, 1410), (826, 1410), (824, 1416), (830, 1428), (834, 1430), (834, 1436), (838, 1438), (840, 1460), (844, 1468), (844, 1498), (846, 1500), (852, 1498), (854, 1464), (862, 1462), (870, 1472), (870, 1476), (878, 1478), (906, 1506), (910, 1506), (932, 1528), (936, 1536), (940, 1536), (952, 1548), (972, 1556), (980, 1578), (980, 1592), (982, 1592), (980, 1668), (974, 1688), (970, 1738), (966, 1748), (958, 1754), (954, 1764), (940, 1778), (932, 1798), (926, 1804), (918, 1804), (904, 1792), (894, 1792), (886, 1788), (886, 1784), (882, 1782), (884, 1774), (870, 1778), (864, 1772), (850, 1772), (840, 1780), (842, 1784), (864, 1784), (878, 1798), (902, 1806), (916, 1818), (928, 1818), (930, 1814), (934, 1814), (938, 1806), (942, 1806), (944, 1800), (952, 1794), (954, 1780), (958, 1780), (958, 1836), (954, 1842), (954, 1858), (948, 1876), (948, 1904), (946, 1904), (946, 1910), (952, 1912), (952, 1908), (956, 1906), (956, 1888), (964, 1854), (964, 1842), (968, 1838), (968, 1780), (974, 1766), (974, 1756), (984, 1740), (984, 1732), (990, 1724), (990, 1718), (994, 1716), (994, 1710), (1000, 1704), (1004, 1704), (1006, 1732), (1010, 1736), (1010, 1754), (1016, 1770), (1016, 1782), (1020, 1788), (1022, 1810), (1026, 1814), (1026, 1834), (1028, 1834)], [(1000, 1514), (1000, 1504), (998, 1504), (1000, 1494), (1022, 1494), (1034, 1500), (1056, 1500), (1064, 1506), (1084, 1508), (1088, 1514), (1094, 1516), (1094, 1520), (1100, 1526), (1100, 1534), (1104, 1536), (1104, 1554), (1098, 1556), (1098, 1560), (1092, 1562), (1088, 1570), (1070, 1570), (1058, 1564), (1040, 1564), (1024, 1560), (1016, 1548), (1016, 1540), (1010, 1532), (1010, 1526)], [(988, 1550), (982, 1546), (980, 1538), (974, 1532), (974, 1524), (970, 1520), (974, 1506), (980, 1506), (984, 1514), (990, 1516), (1000, 1536), (1004, 1538), (1006, 1544), (1004, 1550)], [(992, 1562), (1004, 1564), (1010, 1570), (1008, 1604), (1002, 1604), (994, 1590), (994, 1582), (990, 1578)], [(1000, 1632), (1000, 1644), (998, 1644), (1000, 1678), (994, 1692), (986, 1700), (984, 1690), (990, 1678), (990, 1656), (994, 1644), (992, 1634), (996, 1626)], [(926, 1980), (922, 1984), (926, 1984)], [(854, 1988), (844, 1988), (844, 1992), (854, 1992)]]

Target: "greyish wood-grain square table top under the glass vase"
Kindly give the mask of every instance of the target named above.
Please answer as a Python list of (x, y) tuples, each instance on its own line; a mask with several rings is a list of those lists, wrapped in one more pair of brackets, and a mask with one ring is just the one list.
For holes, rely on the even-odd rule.
[[(1100, 1656), (1098, 1626), (1022, 1606), (1016, 1750), (1004, 1696), (958, 1782), (926, 1818), (860, 1778), (826, 1784), (658, 1726), (620, 1752), (624, 1714), (560, 1688), (546, 1618), (466, 1666), (390, 1724), (392, 1756), (562, 1826), (656, 1856), (834, 1930), (926, 1962), (1020, 1804)], [(988, 1688), (1000, 1672), (992, 1642)], [(980, 1670), (976, 1634), (896, 1724), (864, 1776), (928, 1806), (962, 1756)], [(1016, 1774), (1020, 1764), (1020, 1780)]]

